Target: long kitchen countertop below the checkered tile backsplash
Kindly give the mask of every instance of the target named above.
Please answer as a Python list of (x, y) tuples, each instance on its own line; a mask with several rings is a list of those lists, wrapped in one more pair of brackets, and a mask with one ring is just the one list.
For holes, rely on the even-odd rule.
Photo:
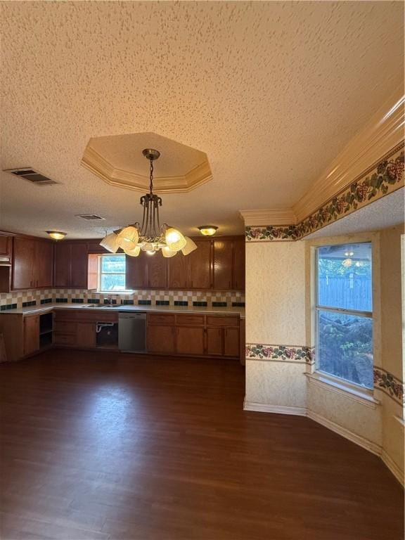
[[(94, 307), (102, 305), (103, 307)], [(5, 309), (0, 314), (34, 314), (45, 313), (53, 309), (89, 309), (91, 311), (155, 311), (171, 313), (205, 313), (205, 314), (223, 314), (239, 315), (240, 319), (245, 319), (244, 307), (201, 307), (201, 306), (136, 306), (123, 304), (65, 304), (52, 303), (40, 304), (38, 306), (20, 307), (15, 309)]]

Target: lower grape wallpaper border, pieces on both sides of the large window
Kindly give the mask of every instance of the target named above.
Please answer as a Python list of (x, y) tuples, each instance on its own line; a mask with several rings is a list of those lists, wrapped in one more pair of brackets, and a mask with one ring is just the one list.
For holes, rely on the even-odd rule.
[[(267, 345), (263, 343), (246, 344), (246, 360), (294, 362), (313, 365), (315, 363), (314, 347), (306, 345)], [(404, 382), (384, 368), (373, 368), (374, 388), (382, 390), (387, 396), (403, 404)]]

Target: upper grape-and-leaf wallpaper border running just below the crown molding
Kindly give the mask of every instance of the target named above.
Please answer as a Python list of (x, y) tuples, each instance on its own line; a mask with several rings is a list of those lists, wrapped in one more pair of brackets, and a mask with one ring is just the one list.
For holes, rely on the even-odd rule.
[(300, 240), (404, 186), (404, 143), (297, 225), (248, 226), (247, 242)]

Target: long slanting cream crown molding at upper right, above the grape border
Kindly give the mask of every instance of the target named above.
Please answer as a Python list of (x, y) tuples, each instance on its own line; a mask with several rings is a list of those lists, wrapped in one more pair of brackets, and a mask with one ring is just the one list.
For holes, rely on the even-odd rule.
[(347, 188), (404, 141), (404, 103), (404, 90), (399, 87), (293, 206), (297, 221)]

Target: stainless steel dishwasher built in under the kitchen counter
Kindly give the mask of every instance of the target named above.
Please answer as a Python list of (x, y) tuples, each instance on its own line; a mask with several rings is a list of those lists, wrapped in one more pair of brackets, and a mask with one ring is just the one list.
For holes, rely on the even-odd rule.
[(122, 352), (146, 352), (146, 313), (120, 311), (118, 348)]

